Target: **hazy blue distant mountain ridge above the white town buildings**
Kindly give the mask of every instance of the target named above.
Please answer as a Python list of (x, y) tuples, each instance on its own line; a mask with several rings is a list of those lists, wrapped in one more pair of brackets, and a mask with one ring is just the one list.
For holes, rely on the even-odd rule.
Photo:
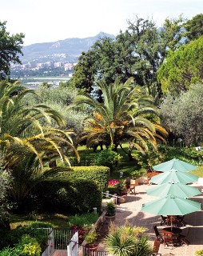
[(94, 44), (99, 38), (102, 37), (115, 38), (113, 34), (105, 34), (100, 32), (94, 37), (90, 38), (67, 38), (57, 42), (42, 42), (35, 43), (30, 46), (23, 46), (21, 57), (22, 63), (30, 62), (33, 60), (42, 59), (42, 62), (54, 61), (76, 61), (82, 51), (87, 51), (90, 46)]

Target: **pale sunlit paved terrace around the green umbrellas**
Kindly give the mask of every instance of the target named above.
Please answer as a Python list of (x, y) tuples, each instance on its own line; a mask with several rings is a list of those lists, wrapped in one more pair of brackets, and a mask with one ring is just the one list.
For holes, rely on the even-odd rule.
[[(156, 186), (156, 185), (150, 185)], [(191, 186), (196, 186), (200, 191), (203, 189), (203, 184), (193, 183)], [(125, 221), (135, 226), (145, 226), (148, 228), (146, 232), (149, 236), (150, 242), (155, 240), (155, 234), (153, 232), (153, 226), (157, 226), (158, 230), (161, 230), (163, 226), (160, 226), (161, 217), (154, 216), (152, 214), (141, 212), (141, 206), (145, 202), (157, 199), (155, 197), (146, 194), (145, 190), (149, 188), (148, 185), (140, 185), (136, 187), (136, 194), (128, 194), (126, 202), (117, 206), (117, 214), (115, 218), (116, 225), (122, 225)], [(203, 209), (203, 194), (190, 198), (196, 202), (201, 202), (201, 209)], [(196, 250), (203, 249), (203, 211), (187, 214), (184, 218), (187, 226), (182, 227), (181, 234), (185, 234), (189, 229), (189, 246), (164, 246), (161, 244), (159, 253), (162, 256), (166, 255), (178, 255), (178, 256), (193, 256)], [(104, 250), (105, 246), (102, 242), (99, 245), (99, 250)]]

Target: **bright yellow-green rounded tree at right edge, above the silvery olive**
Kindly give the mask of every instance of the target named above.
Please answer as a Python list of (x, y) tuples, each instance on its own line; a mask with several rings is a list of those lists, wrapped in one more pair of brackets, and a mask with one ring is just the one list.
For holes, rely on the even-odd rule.
[(170, 51), (165, 62), (157, 71), (164, 93), (179, 94), (189, 89), (190, 83), (203, 79), (203, 36), (176, 51)]

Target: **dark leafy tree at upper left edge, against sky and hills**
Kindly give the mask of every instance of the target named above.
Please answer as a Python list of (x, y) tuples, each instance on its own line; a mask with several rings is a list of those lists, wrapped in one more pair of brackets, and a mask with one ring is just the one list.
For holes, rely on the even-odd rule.
[(24, 34), (10, 35), (6, 31), (6, 22), (0, 22), (0, 79), (10, 74), (10, 64), (21, 64), (19, 55), (22, 54)]

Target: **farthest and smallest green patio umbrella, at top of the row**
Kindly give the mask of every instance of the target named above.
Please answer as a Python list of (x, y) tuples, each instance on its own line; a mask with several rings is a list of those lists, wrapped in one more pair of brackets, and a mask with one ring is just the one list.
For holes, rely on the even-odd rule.
[(153, 166), (153, 170), (158, 170), (158, 171), (168, 171), (172, 169), (181, 170), (181, 171), (191, 171), (191, 170), (197, 170), (197, 166), (193, 166), (189, 162), (184, 162), (177, 158), (173, 158), (172, 160), (169, 160), (167, 162), (162, 162), (157, 166)]

